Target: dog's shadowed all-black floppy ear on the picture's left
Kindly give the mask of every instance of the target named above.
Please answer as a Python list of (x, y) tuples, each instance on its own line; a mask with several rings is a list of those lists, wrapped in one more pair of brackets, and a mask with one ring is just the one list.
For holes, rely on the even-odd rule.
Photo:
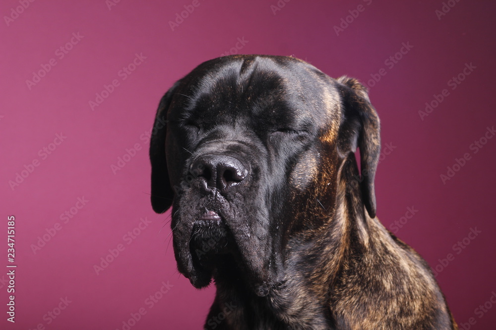
[(167, 135), (167, 110), (179, 82), (162, 97), (158, 105), (155, 123), (150, 140), (150, 161), (152, 164), (152, 208), (157, 213), (164, 213), (171, 207), (174, 191), (169, 182), (167, 159), (165, 156), (165, 137)]

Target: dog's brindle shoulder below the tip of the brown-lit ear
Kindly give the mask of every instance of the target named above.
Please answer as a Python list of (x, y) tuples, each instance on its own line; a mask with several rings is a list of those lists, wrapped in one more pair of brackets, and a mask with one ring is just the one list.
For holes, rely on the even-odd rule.
[(377, 218), (369, 220), (367, 246), (350, 251), (330, 288), (337, 328), (452, 329), (427, 262)]

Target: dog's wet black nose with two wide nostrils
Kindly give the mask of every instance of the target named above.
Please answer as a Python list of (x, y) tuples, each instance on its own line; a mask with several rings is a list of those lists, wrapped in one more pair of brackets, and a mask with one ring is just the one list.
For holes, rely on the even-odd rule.
[(234, 157), (207, 154), (196, 158), (191, 173), (205, 180), (208, 187), (224, 190), (245, 180), (248, 169)]

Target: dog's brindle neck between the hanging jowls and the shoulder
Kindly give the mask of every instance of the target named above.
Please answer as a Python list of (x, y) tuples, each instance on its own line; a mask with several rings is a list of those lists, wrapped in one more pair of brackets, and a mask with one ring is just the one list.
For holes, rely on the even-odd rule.
[[(208, 322), (216, 315), (226, 319), (216, 329), (224, 326), (225, 329), (329, 329), (332, 326), (328, 301), (334, 284), (349, 258), (350, 248), (366, 248), (369, 240), (366, 227), (375, 224), (363, 207), (358, 181), (350, 182), (358, 173), (355, 158), (343, 160), (336, 172), (334, 203), (325, 205), (329, 207), (327, 221), (313, 231), (316, 234), (293, 237), (287, 242), (280, 285), (272, 287), (268, 296), (258, 297), (248, 284), (240, 285), (243, 276), (236, 270), (220, 274), (207, 329), (210, 329)], [(362, 206), (357, 207), (357, 203)], [(324, 207), (321, 201), (318, 204)]]

